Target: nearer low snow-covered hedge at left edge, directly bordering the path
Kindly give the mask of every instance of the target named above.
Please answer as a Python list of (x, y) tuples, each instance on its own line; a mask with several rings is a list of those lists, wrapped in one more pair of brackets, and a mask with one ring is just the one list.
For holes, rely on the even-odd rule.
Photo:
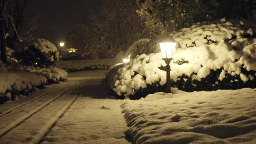
[(17, 96), (27, 95), (31, 91), (41, 89), (46, 78), (29, 72), (0, 73), (0, 104), (14, 100)]

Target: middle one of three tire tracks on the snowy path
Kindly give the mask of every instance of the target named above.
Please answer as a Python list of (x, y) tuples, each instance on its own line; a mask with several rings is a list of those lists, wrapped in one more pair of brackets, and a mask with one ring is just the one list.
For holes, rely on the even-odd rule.
[[(77, 83), (77, 82), (76, 82)], [(37, 108), (31, 110), (29, 113), (25, 114), (22, 117), (19, 117), (18, 119), (16, 119), (15, 121), (11, 122), (8, 126), (6, 126), (5, 128), (0, 130), (0, 137), (7, 134), (9, 131), (11, 131), (13, 128), (15, 128), (16, 126), (20, 125), (22, 122), (24, 122), (26, 119), (28, 119), (29, 117), (33, 116), (34, 114), (36, 114), (38, 111), (42, 110), (43, 108), (45, 108), (46, 106), (48, 106), (50, 103), (54, 102), (56, 99), (61, 98), (66, 92), (68, 92), (71, 88), (73, 88), (73, 86), (76, 84), (74, 83), (73, 85), (71, 85), (71, 87), (69, 87), (67, 90), (64, 90), (61, 94), (55, 96), (52, 99), (47, 100), (46, 102), (42, 103), (40, 106), (38, 106)]]

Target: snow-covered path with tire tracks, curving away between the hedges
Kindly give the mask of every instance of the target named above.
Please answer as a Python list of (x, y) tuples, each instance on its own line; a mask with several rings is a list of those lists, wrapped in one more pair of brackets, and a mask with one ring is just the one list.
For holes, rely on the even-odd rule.
[(0, 105), (0, 144), (129, 144), (122, 100), (105, 99), (104, 75), (71, 73), (68, 82)]

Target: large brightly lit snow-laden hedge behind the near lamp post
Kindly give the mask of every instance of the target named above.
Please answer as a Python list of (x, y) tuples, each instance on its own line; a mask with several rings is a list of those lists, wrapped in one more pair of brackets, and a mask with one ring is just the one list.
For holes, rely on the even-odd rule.
[[(221, 19), (173, 34), (180, 47), (170, 64), (172, 87), (184, 91), (255, 88), (253, 29), (243, 22)], [(139, 99), (165, 89), (165, 62), (160, 53), (141, 54), (122, 68), (113, 69), (107, 81), (121, 97)]]

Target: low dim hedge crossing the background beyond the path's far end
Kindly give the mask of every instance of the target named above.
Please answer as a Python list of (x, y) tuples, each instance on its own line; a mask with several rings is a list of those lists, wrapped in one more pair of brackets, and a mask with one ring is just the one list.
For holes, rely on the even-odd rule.
[(77, 72), (86, 70), (104, 70), (109, 69), (111, 65), (118, 63), (116, 59), (99, 59), (99, 60), (72, 60), (59, 61), (56, 66), (67, 72)]

